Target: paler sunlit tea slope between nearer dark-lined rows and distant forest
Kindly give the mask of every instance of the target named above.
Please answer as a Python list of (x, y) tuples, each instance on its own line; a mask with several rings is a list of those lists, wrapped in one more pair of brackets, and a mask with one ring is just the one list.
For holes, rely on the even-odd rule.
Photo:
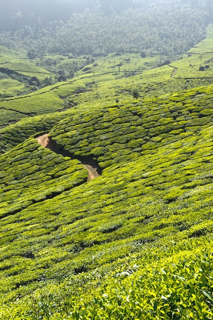
[[(203, 54), (206, 45), (208, 44), (207, 52), (211, 46), (211, 33), (212, 27), (209, 27), (206, 40), (193, 49), (199, 54), (189, 56), (189, 52), (183, 59), (172, 62), (171, 66), (165, 65), (153, 68), (154, 64), (156, 65), (161, 59), (156, 56), (142, 58), (137, 54), (123, 54), (121, 56), (111, 54), (97, 59), (95, 62), (98, 66), (88, 65), (88, 67), (91, 67), (90, 73), (79, 71), (75, 78), (67, 82), (47, 86), (29, 96), (21, 97), (21, 100), (17, 97), (4, 99), (4, 101), (0, 101), (0, 109), (6, 108), (15, 112), (11, 119), (14, 122), (29, 115), (34, 116), (63, 110), (64, 107), (73, 104), (77, 105), (78, 109), (99, 109), (100, 105), (104, 105), (104, 107), (117, 104), (126, 105), (132, 103), (131, 89), (135, 86), (139, 87), (140, 99), (143, 102), (143, 99), (147, 99), (147, 97), (159, 97), (171, 92), (211, 84), (211, 63), (208, 63), (209, 68), (205, 69), (204, 72), (199, 71), (200, 55), (203, 57), (202, 61), (207, 61), (206, 59), (209, 60), (211, 57), (210, 53), (207, 53), (205, 57)], [(125, 59), (130, 59), (130, 61), (125, 61)], [(67, 60), (69, 59), (67, 58)], [(118, 67), (117, 65), (122, 61), (123, 65)], [(193, 62), (193, 67), (189, 67), (191, 62)], [(114, 66), (114, 64), (116, 70), (112, 72), (111, 66)], [(178, 68), (174, 76), (173, 66)], [(139, 75), (133, 76), (133, 74), (129, 77), (129, 70), (137, 74), (140, 67), (144, 67), (144, 70), (141, 70)], [(150, 70), (147, 70), (147, 68)], [(99, 72), (99, 69), (102, 72)], [(124, 69), (126, 69), (126, 75)], [(195, 70), (195, 73), (189, 74), (189, 69), (190, 72)], [(185, 79), (186, 75), (189, 79)], [(118, 103), (116, 103), (116, 100), (118, 100)], [(17, 112), (23, 112), (23, 114), (20, 115)], [(10, 123), (6, 122), (4, 116), (0, 120), (4, 126)]]

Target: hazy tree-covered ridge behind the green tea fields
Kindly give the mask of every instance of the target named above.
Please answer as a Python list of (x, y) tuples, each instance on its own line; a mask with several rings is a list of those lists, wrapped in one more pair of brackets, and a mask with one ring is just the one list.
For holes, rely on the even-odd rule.
[[(140, 4), (140, 2), (139, 2)], [(194, 2), (193, 2), (194, 4)], [(27, 25), (0, 34), (0, 43), (41, 53), (108, 54), (143, 52), (181, 55), (205, 36), (211, 20), (208, 2), (142, 2), (138, 8), (106, 15), (101, 7), (73, 13), (66, 21), (52, 21), (42, 28)]]

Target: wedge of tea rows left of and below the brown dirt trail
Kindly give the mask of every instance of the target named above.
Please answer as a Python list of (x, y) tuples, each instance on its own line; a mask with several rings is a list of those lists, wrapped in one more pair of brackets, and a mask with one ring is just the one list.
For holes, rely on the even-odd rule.
[[(29, 139), (0, 157), (0, 217), (82, 184), (88, 172)], [(6, 235), (6, 234), (5, 234)]]

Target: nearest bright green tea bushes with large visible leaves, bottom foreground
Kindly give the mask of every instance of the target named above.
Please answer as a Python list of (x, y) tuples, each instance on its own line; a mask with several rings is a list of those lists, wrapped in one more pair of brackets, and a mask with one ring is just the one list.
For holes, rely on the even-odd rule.
[(212, 257), (212, 237), (168, 239), (60, 286), (51, 283), (5, 314), (10, 319), (22, 307), (32, 319), (211, 319)]

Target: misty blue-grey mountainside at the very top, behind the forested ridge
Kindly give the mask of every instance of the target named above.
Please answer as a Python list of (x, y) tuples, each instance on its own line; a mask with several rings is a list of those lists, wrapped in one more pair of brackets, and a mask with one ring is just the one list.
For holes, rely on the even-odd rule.
[(113, 11), (121, 12), (128, 8), (147, 8), (162, 6), (187, 5), (212, 13), (212, 0), (1, 0), (0, 31), (13, 31), (31, 27), (46, 27), (54, 20), (68, 21), (73, 13), (82, 13), (99, 6), (105, 15)]

